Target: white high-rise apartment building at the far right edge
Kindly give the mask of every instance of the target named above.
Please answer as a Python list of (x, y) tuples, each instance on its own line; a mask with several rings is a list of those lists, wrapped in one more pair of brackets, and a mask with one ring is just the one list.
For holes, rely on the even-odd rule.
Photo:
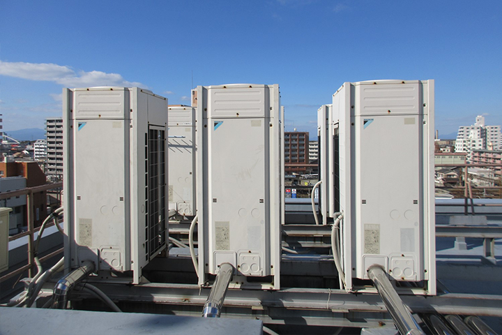
[(486, 126), (485, 117), (478, 115), (476, 124), (460, 126), (455, 141), (455, 152), (466, 152), (467, 161), (472, 161), (473, 150), (500, 150), (501, 126)]

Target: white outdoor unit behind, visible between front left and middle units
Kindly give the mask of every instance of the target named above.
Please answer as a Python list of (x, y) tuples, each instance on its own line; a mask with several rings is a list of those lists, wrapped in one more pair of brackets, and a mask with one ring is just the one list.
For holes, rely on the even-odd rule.
[(169, 209), (195, 216), (195, 108), (169, 106)]

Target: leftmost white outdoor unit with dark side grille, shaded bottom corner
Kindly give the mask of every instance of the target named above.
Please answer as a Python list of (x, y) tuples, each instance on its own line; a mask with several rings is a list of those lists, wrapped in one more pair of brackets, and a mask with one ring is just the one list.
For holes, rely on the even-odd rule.
[(139, 88), (63, 89), (63, 124), (66, 269), (91, 260), (103, 281), (126, 272), (139, 283), (169, 237), (167, 99)]

